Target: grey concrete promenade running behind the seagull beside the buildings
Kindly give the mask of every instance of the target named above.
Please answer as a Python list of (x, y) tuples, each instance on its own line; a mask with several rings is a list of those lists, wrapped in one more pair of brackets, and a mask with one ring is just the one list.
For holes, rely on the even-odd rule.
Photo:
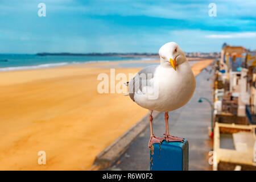
[[(210, 66), (207, 67), (210, 69)], [(213, 74), (213, 73), (212, 73)], [(189, 170), (212, 170), (209, 165), (209, 151), (213, 142), (208, 137), (210, 126), (210, 105), (208, 102), (197, 102), (200, 97), (210, 101), (212, 96), (212, 77), (205, 69), (196, 77), (195, 94), (187, 105), (169, 113), (171, 135), (183, 137), (189, 142)], [(208, 80), (209, 79), (209, 80)], [(154, 134), (163, 136), (165, 131), (164, 113), (154, 118)], [(127, 151), (110, 167), (110, 170), (149, 170), (150, 150), (147, 147), (150, 138), (150, 127), (139, 135)]]

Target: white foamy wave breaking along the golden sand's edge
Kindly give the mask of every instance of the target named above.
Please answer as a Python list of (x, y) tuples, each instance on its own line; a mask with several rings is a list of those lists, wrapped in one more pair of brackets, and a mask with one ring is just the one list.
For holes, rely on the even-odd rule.
[(52, 67), (61, 67), (68, 64), (76, 64), (77, 62), (72, 63), (49, 63), (49, 64), (39, 64), (39, 65), (31, 65), (31, 66), (22, 66), (22, 67), (6, 67), (6, 68), (0, 68), (0, 72), (6, 72), (6, 71), (18, 71), (18, 70), (24, 70), (24, 69), (42, 69), (42, 68), (52, 68)]

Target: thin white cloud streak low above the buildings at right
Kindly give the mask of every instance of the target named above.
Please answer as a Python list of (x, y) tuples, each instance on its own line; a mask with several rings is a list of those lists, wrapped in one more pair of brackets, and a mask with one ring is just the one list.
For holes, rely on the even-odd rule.
[(212, 35), (207, 35), (206, 37), (212, 38), (212, 39), (255, 38), (256, 32), (241, 32), (241, 33), (233, 33), (233, 34), (212, 34)]

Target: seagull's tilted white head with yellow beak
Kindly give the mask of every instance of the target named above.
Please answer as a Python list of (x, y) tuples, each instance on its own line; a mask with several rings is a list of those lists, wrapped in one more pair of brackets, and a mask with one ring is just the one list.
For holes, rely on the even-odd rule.
[(174, 68), (187, 61), (185, 53), (175, 42), (168, 42), (159, 49), (160, 64), (166, 68)]

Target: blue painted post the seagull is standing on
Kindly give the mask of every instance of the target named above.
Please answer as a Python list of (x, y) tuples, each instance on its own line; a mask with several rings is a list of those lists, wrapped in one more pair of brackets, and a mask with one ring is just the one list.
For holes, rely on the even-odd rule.
[(188, 141), (154, 143), (150, 149), (150, 171), (187, 171)]

